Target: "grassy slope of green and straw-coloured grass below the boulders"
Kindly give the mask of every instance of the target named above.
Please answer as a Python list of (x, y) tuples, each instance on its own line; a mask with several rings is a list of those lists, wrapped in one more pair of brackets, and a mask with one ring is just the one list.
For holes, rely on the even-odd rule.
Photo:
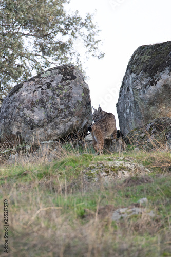
[[(150, 172), (116, 179), (118, 169), (100, 163), (134, 162)], [(95, 168), (92, 168), (95, 167)], [(138, 167), (138, 166), (136, 166)], [(121, 169), (121, 168), (120, 168)], [(98, 179), (94, 178), (97, 173)], [(56, 158), (22, 156), (0, 167), (1, 256), (171, 256), (171, 153), (135, 152), (97, 156), (63, 146)], [(96, 174), (95, 174), (96, 175)], [(138, 200), (147, 198), (144, 204)], [(8, 253), (4, 239), (8, 200)], [(112, 220), (119, 208), (141, 213)], [(148, 215), (153, 211), (154, 215)]]

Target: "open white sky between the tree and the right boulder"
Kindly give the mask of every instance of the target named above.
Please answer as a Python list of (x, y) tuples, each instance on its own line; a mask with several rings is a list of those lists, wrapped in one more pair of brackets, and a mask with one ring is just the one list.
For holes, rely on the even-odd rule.
[(101, 29), (102, 60), (90, 58), (85, 63), (91, 104), (115, 114), (116, 103), (128, 61), (141, 45), (171, 41), (170, 0), (71, 0), (69, 8), (85, 13), (97, 10), (94, 21)]

